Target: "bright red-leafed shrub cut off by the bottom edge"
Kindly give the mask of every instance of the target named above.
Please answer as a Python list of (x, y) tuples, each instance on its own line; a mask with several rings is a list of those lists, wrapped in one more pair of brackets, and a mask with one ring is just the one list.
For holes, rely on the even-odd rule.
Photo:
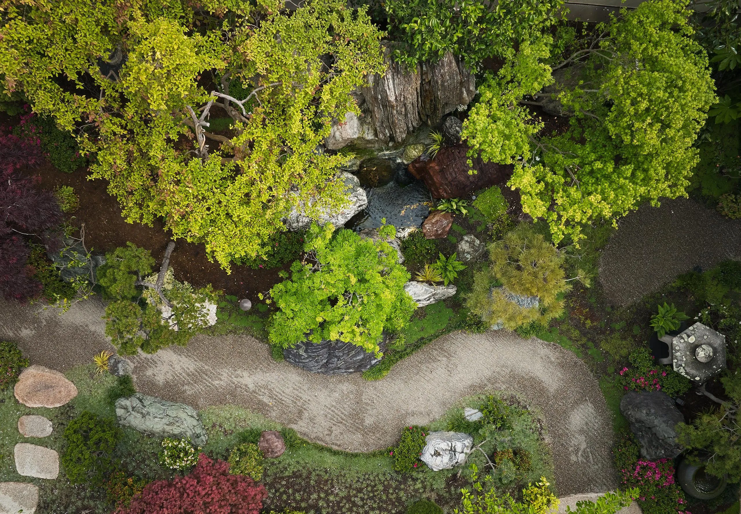
[(265, 486), (202, 453), (193, 473), (147, 484), (115, 514), (259, 514), (267, 497)]

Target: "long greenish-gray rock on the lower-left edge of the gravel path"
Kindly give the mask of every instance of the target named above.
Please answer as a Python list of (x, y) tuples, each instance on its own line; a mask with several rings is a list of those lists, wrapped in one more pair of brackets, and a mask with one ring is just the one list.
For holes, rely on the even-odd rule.
[(204, 447), (208, 436), (196, 410), (184, 403), (135, 393), (116, 400), (116, 418), (124, 427), (158, 437), (190, 439)]

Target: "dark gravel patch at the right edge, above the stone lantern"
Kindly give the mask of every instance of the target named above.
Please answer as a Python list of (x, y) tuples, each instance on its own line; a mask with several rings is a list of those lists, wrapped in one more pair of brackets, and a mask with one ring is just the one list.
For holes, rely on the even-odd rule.
[(729, 220), (694, 200), (642, 206), (619, 221), (602, 250), (599, 282), (614, 305), (630, 305), (677, 275), (741, 258), (741, 220)]

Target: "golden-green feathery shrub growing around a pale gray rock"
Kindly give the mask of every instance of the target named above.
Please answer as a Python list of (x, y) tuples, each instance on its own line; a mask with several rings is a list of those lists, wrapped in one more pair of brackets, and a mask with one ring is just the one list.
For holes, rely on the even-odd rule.
[[(563, 311), (559, 295), (570, 286), (564, 279), (564, 257), (532, 226), (521, 223), (502, 240), (489, 246), (491, 268), (473, 278), (468, 308), (493, 325), (500, 319), (505, 328), (514, 330), (531, 322), (545, 324)], [(539, 307), (523, 308), (505, 297), (506, 291), (521, 296), (538, 297)]]

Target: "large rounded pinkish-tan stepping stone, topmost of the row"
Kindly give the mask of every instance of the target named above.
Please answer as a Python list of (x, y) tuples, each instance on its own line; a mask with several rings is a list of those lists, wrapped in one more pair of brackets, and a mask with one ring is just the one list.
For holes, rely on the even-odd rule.
[(18, 377), (15, 393), (26, 407), (62, 407), (77, 396), (77, 388), (59, 371), (34, 364)]

